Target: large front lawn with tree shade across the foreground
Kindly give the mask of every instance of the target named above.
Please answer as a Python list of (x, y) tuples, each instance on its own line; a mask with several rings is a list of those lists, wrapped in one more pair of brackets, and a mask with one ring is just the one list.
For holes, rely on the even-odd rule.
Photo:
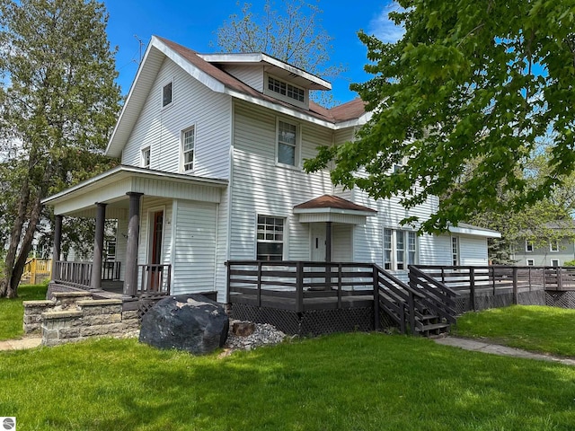
[(20, 430), (567, 430), (575, 368), (381, 333), (190, 356), (102, 339), (0, 353)]

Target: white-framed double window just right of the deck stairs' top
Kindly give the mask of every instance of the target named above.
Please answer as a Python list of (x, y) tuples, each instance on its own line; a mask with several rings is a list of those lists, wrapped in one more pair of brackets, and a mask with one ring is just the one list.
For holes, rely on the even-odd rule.
[(417, 233), (384, 229), (384, 269), (404, 270), (417, 263)]

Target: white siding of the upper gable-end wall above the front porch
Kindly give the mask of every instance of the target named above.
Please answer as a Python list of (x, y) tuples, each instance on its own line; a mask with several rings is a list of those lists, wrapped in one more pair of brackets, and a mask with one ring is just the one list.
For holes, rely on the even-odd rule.
[[(173, 102), (162, 108), (162, 89), (173, 81)], [(181, 132), (195, 128), (194, 175), (229, 177), (231, 98), (212, 92), (166, 59), (122, 152), (122, 163), (140, 166), (150, 147), (150, 168), (181, 172)]]

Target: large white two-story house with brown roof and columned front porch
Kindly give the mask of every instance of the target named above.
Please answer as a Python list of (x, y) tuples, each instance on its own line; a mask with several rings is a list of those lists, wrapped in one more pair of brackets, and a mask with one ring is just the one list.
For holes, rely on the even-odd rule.
[(429, 217), (437, 198), (408, 212), (399, 198), (303, 171), (318, 146), (352, 140), (369, 118), (360, 100), (331, 110), (309, 100), (330, 89), (265, 54), (203, 55), (153, 37), (106, 150), (121, 165), (45, 203), (57, 216), (118, 219), (128, 294), (136, 259), (171, 265), (173, 293), (220, 301), (230, 259), (375, 262), (403, 277), (415, 263), (487, 265), (499, 233), (460, 225), (419, 236), (399, 224)]

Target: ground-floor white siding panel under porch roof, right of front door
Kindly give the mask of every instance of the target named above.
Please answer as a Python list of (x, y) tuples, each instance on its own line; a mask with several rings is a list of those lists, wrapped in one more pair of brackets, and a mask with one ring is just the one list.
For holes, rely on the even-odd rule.
[(213, 291), (217, 205), (177, 200), (174, 221), (173, 294)]

